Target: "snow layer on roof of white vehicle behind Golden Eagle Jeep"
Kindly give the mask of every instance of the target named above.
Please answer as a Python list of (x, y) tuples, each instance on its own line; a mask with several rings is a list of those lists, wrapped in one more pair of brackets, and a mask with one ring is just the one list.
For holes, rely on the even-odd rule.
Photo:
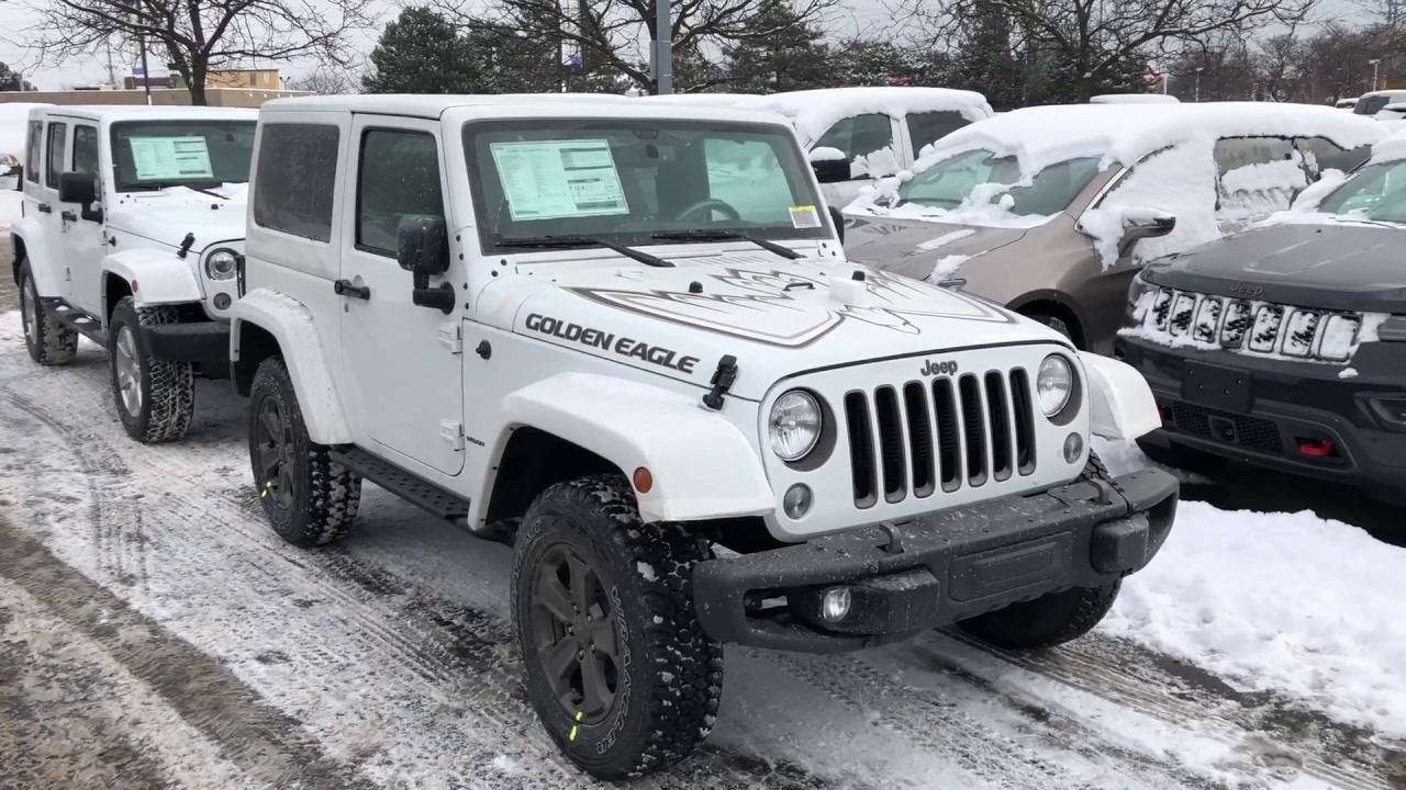
[(651, 96), (654, 101), (686, 104), (718, 104), (770, 110), (792, 119), (803, 142), (810, 143), (842, 118), (866, 112), (887, 112), (901, 117), (908, 112), (952, 110), (969, 121), (993, 115), (986, 97), (974, 90), (918, 86), (877, 87), (821, 87), (790, 90), (765, 96), (747, 93), (709, 93), (682, 96)]

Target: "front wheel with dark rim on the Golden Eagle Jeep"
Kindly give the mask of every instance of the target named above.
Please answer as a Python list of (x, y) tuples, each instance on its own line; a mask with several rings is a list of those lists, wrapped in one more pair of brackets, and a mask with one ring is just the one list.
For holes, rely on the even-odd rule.
[(517, 533), (513, 610), (527, 693), (582, 770), (620, 780), (669, 768), (707, 738), (723, 645), (693, 609), (706, 543), (644, 524), (619, 475), (554, 485)]

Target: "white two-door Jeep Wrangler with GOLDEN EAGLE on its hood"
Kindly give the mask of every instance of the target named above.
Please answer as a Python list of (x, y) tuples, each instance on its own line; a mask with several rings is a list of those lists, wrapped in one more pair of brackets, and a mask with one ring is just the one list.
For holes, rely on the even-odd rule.
[(779, 115), (610, 97), (308, 97), (259, 119), (231, 330), (273, 529), (371, 481), (516, 545), (527, 689), (586, 772), (709, 734), (723, 644), (1088, 631), (1177, 482), (1090, 434), (1129, 367), (844, 259)]

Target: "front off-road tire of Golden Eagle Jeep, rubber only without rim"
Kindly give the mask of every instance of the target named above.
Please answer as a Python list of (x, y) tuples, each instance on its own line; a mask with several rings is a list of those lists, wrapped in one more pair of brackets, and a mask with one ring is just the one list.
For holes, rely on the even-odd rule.
[[(624, 668), (613, 707), (595, 724), (578, 724), (553, 694), (534, 647), (536, 572), (562, 544), (591, 558), (617, 617)], [(693, 607), (693, 566), (710, 557), (706, 541), (678, 526), (641, 523), (634, 491), (619, 475), (553, 485), (527, 510), (513, 562), (527, 692), (547, 734), (586, 773), (603, 780), (654, 773), (710, 734), (723, 694), (723, 645), (703, 633)]]

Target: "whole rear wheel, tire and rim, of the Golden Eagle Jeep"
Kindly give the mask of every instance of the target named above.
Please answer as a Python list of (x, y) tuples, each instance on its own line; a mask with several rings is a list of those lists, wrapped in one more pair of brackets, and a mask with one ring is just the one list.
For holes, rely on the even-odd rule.
[(278, 357), (259, 364), (249, 389), (249, 462), (278, 537), (307, 548), (350, 531), (361, 503), (361, 478), (308, 436), (292, 377)]

